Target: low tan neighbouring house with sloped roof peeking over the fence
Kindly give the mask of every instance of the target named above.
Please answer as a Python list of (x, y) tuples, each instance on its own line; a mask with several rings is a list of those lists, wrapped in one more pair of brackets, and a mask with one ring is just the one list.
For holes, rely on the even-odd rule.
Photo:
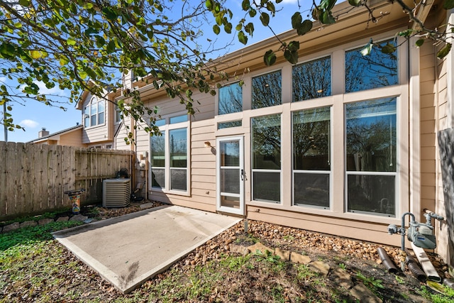
[(77, 123), (76, 126), (66, 128), (56, 133), (49, 133), (43, 128), (38, 132), (38, 138), (27, 143), (48, 144), (48, 145), (67, 145), (85, 147), (82, 143), (82, 125)]

